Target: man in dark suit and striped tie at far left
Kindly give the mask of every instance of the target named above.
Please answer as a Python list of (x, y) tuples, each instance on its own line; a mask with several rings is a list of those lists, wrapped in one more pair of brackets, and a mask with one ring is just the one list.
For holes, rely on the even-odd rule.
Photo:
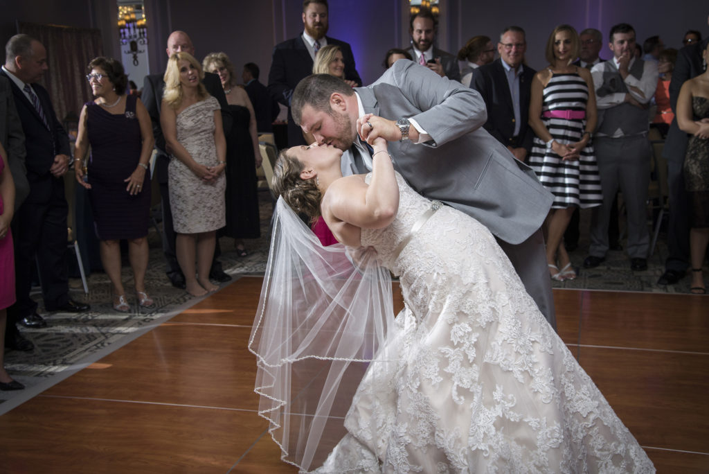
[(69, 298), (67, 282), (67, 199), (64, 174), (71, 165), (69, 138), (50, 101), (37, 84), (47, 71), (47, 50), (28, 35), (14, 35), (6, 47), (1, 74), (12, 87), (25, 135), (30, 192), (13, 221), (17, 302), (8, 310), (6, 341), (16, 341), (15, 322), (30, 328), (47, 325), (30, 297), (32, 269), (39, 268), (47, 311), (83, 312), (88, 304)]

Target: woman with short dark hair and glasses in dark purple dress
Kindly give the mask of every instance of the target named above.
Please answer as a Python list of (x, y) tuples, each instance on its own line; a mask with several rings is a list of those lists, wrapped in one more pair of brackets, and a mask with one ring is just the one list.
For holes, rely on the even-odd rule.
[[(129, 312), (121, 281), (121, 239), (128, 255), (140, 307), (152, 307), (145, 292), (147, 226), (150, 221), (152, 124), (143, 103), (125, 94), (128, 77), (120, 62), (96, 57), (86, 79), (96, 99), (84, 104), (74, 153), (77, 181), (89, 189), (96, 236), (101, 241), (101, 263), (113, 285), (113, 309)], [(91, 145), (91, 158), (83, 164)]]

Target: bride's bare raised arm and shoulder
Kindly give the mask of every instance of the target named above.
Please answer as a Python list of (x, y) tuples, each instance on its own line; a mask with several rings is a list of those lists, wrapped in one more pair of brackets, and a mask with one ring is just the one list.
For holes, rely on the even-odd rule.
[(358, 176), (345, 177), (330, 184), (322, 204), (323, 217), (328, 225), (340, 221), (359, 228), (383, 228), (396, 217), (398, 184), (383, 138), (374, 142), (372, 162), (369, 185)]

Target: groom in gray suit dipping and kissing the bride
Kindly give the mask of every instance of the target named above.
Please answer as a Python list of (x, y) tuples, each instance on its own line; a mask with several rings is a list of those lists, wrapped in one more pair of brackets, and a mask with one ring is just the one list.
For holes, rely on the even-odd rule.
[(357, 118), (374, 114), (369, 135), (389, 141), (396, 170), (428, 199), (474, 217), (496, 236), (549, 324), (556, 329), (544, 222), (552, 194), (535, 173), (487, 133), (478, 92), (408, 60), (394, 62), (369, 87), (350, 88), (330, 75), (296, 87), (293, 118), (318, 143), (335, 145), (344, 175), (372, 169), (357, 139)]

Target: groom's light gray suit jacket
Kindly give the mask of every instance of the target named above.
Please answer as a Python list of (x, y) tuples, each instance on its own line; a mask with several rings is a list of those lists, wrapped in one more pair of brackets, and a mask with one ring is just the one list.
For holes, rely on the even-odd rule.
[(552, 194), (483, 128), (478, 92), (408, 60), (355, 90), (365, 113), (413, 118), (431, 136), (423, 144), (389, 143), (396, 170), (418, 193), (469, 214), (513, 245), (539, 230)]

